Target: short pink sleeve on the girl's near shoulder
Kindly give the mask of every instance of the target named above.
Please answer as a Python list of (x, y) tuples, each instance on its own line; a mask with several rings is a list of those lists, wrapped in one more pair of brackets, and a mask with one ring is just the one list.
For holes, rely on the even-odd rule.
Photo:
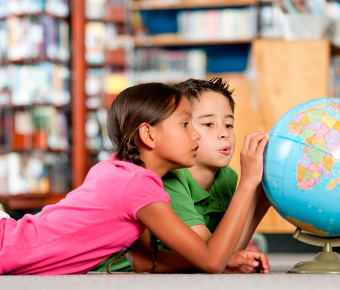
[(124, 190), (121, 199), (122, 216), (136, 219), (136, 213), (141, 208), (155, 202), (170, 203), (169, 194), (163, 190), (161, 179), (156, 173), (140, 171)]

